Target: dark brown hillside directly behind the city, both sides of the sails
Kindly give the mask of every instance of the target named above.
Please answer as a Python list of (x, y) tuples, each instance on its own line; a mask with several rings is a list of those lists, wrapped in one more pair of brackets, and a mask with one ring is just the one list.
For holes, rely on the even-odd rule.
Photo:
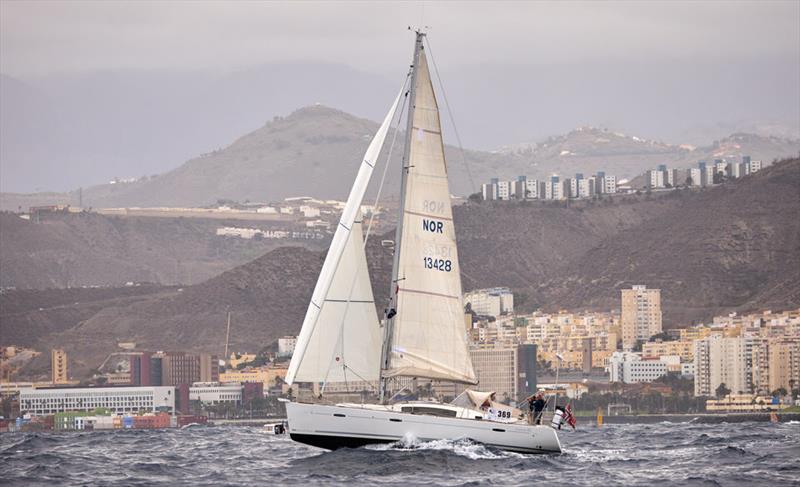
[[(704, 190), (569, 206), (456, 206), (464, 288), (511, 286), (521, 310), (609, 309), (618, 308), (620, 289), (645, 284), (662, 290), (667, 327), (731, 311), (798, 307), (798, 194), (800, 159), (794, 159)], [(380, 238), (370, 240), (367, 252), (381, 309), (391, 253)], [(86, 370), (118, 341), (220, 353), (230, 310), (233, 348), (252, 351), (297, 333), (323, 258), (308, 249), (275, 249), (203, 283), (109, 303), (89, 317), (88, 305), (59, 297), (69, 290), (42, 295), (39, 306), (48, 313), (14, 304), (20, 293), (30, 300), (35, 291), (8, 291), (0, 295), (0, 330), (10, 343), (62, 344)], [(53, 331), (23, 333), (31, 323)]]

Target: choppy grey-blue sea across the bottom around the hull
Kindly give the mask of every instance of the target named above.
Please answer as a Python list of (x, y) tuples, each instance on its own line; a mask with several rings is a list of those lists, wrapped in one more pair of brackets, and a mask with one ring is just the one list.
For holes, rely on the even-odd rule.
[(0, 435), (0, 485), (799, 485), (800, 422), (612, 424), (564, 453), (468, 441), (335, 452), (257, 427)]

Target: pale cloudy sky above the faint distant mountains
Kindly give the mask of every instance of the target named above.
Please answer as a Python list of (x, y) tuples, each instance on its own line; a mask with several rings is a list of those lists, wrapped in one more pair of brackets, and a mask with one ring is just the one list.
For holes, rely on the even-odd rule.
[[(453, 68), (596, 58), (800, 58), (800, 2), (0, 2), (2, 72), (317, 60), (390, 74), (407, 25)], [(446, 60), (446, 61), (445, 61)]]

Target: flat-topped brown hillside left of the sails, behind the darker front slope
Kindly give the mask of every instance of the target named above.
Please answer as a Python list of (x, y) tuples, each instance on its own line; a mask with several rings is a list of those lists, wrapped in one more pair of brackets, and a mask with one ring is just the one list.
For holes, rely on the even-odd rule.
[[(196, 284), (285, 245), (217, 236), (224, 226), (273, 228), (263, 221), (96, 213), (53, 214), (35, 224), (0, 212), (0, 287)], [(326, 239), (302, 242), (314, 250), (327, 244)]]

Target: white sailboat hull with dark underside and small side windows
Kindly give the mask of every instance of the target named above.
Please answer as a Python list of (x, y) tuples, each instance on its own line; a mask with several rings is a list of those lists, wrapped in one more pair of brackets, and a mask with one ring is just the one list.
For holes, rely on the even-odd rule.
[(296, 402), (286, 404), (286, 413), (293, 440), (328, 450), (410, 437), (419, 441), (467, 438), (519, 453), (561, 453), (558, 435), (549, 426), (427, 416), (388, 407)]

